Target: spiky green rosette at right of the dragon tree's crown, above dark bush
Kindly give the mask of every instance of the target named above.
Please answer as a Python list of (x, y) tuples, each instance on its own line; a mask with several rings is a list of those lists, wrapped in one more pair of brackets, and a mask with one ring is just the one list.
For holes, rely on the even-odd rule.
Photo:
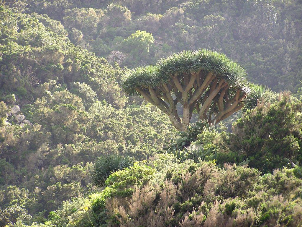
[(259, 101), (265, 100), (267, 98), (265, 95), (266, 91), (268, 91), (268, 88), (265, 85), (253, 85), (242, 100), (243, 112), (254, 109)]

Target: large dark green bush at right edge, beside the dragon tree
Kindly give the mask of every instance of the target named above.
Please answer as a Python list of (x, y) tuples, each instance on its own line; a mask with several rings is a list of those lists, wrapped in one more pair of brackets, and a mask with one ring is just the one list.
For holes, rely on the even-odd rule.
[(281, 168), (284, 157), (301, 162), (301, 112), (302, 102), (286, 93), (271, 104), (247, 110), (233, 124), (233, 132), (223, 136), (218, 162), (240, 163), (248, 158), (251, 167), (264, 173)]

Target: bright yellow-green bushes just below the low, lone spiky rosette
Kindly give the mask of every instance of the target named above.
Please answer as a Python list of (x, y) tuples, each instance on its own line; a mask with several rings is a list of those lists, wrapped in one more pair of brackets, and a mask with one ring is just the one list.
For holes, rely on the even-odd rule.
[[(50, 212), (46, 226), (107, 226), (114, 220), (114, 213), (108, 207), (118, 206), (119, 202), (132, 196), (135, 187), (143, 187), (155, 178), (155, 169), (145, 163), (134, 163), (133, 166), (116, 171), (105, 181), (105, 188), (88, 198), (78, 197), (63, 202), (63, 206)], [(121, 205), (121, 204), (120, 204)], [(39, 225), (40, 226), (40, 225)]]

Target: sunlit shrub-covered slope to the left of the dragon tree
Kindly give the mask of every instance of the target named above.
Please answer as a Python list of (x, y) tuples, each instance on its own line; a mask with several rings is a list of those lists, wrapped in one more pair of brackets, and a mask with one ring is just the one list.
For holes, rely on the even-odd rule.
[[(123, 69), (75, 47), (60, 22), (3, 5), (0, 14), (1, 226), (45, 222), (63, 201), (95, 190), (98, 156), (147, 159), (175, 132), (159, 110), (121, 93)], [(16, 104), (32, 127), (8, 114)]]

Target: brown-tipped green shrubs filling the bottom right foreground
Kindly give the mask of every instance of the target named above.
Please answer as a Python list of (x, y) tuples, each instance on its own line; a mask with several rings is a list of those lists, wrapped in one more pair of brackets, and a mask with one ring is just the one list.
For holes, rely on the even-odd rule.
[[(297, 195), (301, 184), (292, 170), (260, 177), (256, 169), (236, 165), (217, 169), (213, 163), (186, 162), (177, 169), (169, 168), (172, 175), (164, 175), (162, 183), (135, 188), (132, 199), (118, 207), (116, 218), (121, 226), (301, 224), (301, 198), (285, 202)], [(290, 179), (294, 181), (289, 183)], [(282, 189), (283, 182), (287, 189)]]

